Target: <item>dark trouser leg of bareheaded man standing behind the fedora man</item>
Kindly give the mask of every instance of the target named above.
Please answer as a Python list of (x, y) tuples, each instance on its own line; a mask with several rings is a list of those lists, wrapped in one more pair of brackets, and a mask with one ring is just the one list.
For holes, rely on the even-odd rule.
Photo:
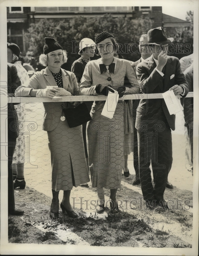
[(138, 142), (137, 129), (135, 128), (136, 115), (133, 116), (133, 165), (135, 169), (135, 180), (139, 179)]

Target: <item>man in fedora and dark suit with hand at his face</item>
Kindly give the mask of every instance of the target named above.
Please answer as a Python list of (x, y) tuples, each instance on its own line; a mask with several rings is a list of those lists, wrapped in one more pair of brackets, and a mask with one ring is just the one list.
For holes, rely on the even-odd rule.
[[(167, 56), (168, 44), (173, 38), (167, 38), (162, 27), (150, 29), (147, 35), (152, 56), (136, 68), (140, 87), (147, 94), (173, 90), (175, 95), (185, 97), (189, 85), (179, 59)], [(173, 160), (171, 129), (175, 130), (175, 115), (169, 114), (163, 99), (141, 99), (135, 127), (138, 134), (139, 176), (146, 206), (149, 209), (155, 205), (168, 208), (163, 195)]]

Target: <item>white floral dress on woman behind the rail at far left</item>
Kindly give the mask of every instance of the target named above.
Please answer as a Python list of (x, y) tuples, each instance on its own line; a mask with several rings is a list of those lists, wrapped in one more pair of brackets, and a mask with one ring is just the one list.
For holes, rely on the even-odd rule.
[[(17, 74), (21, 81), (21, 84), (24, 84), (28, 79), (28, 72), (21, 65), (21, 61), (16, 61), (14, 65), (17, 68)], [(25, 162), (25, 136), (24, 136), (24, 128), (25, 128), (25, 116), (26, 116), (26, 103), (20, 103), (15, 105), (15, 109), (17, 111), (18, 120), (19, 120), (19, 136), (16, 141), (15, 152), (13, 155), (13, 164), (24, 163)]]

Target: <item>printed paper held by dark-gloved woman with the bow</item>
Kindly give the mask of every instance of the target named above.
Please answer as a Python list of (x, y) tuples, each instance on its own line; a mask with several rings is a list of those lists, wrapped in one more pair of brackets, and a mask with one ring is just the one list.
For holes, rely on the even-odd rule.
[(119, 94), (113, 88), (111, 88), (114, 92), (109, 91), (107, 100), (104, 104), (101, 115), (106, 116), (107, 118), (112, 119), (115, 113), (115, 109), (118, 103)]

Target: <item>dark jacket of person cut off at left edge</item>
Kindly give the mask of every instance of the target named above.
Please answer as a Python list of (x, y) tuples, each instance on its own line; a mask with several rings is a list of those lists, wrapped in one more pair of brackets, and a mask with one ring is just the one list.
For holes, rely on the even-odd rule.
[[(15, 90), (21, 85), (21, 81), (17, 74), (17, 68), (14, 64), (7, 63), (7, 76), (8, 76), (8, 97), (15, 96)], [(14, 105), (19, 103), (8, 104), (8, 136), (18, 137), (18, 116)]]

